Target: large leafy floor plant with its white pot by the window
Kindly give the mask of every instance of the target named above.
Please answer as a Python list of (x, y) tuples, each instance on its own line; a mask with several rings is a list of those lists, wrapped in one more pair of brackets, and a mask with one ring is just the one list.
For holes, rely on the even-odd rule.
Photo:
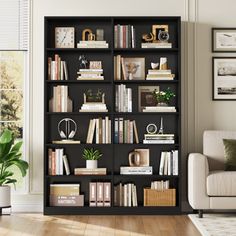
[(3, 131), (0, 137), (0, 207), (11, 205), (11, 191), (8, 184), (15, 185), (17, 182), (10, 168), (12, 166), (18, 167), (24, 177), (29, 167), (28, 163), (21, 159), (21, 146), (22, 141), (14, 143), (14, 137), (10, 130)]

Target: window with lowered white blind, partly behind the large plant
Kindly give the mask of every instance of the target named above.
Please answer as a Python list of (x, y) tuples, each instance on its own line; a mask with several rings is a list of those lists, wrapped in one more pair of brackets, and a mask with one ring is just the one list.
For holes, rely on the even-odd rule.
[[(29, 0), (1, 0), (0, 8), (0, 133), (5, 128), (23, 140), (23, 158), (28, 157), (28, 38)], [(26, 112), (27, 111), (27, 112)], [(18, 168), (16, 193), (28, 187)], [(14, 190), (14, 188), (12, 188)], [(14, 191), (15, 192), (15, 191)]]

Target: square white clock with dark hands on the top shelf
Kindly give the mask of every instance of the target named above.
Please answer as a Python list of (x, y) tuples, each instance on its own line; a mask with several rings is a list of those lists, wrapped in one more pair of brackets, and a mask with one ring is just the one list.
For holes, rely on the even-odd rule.
[(56, 48), (74, 48), (75, 46), (75, 28), (74, 27), (56, 27), (55, 28), (55, 47)]

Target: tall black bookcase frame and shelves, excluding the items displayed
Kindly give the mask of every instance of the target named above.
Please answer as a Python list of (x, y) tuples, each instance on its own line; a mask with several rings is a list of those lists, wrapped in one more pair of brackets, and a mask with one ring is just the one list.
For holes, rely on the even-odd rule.
[[(45, 48), (44, 48), (44, 214), (179, 214), (181, 212), (181, 19), (180, 17), (45, 17)], [(114, 25), (131, 24), (136, 29), (136, 48), (119, 49), (114, 48)], [(141, 48), (142, 34), (151, 31), (154, 24), (168, 25), (172, 48), (144, 49)], [(75, 27), (75, 48), (55, 48), (55, 27)], [(81, 40), (82, 30), (90, 28), (95, 31), (97, 28), (104, 29), (105, 40), (109, 43), (106, 49), (79, 49), (76, 44)], [(48, 80), (48, 57), (59, 54), (67, 62), (69, 80), (55, 81)], [(101, 60), (104, 70), (104, 81), (78, 81), (78, 58), (84, 54), (88, 60)], [(148, 80), (126, 80), (114, 81), (114, 61), (116, 55), (127, 57), (145, 57), (145, 74), (150, 69), (152, 60), (159, 60), (160, 57), (168, 58), (168, 66), (175, 74), (172, 81), (148, 81)], [(133, 112), (117, 113), (115, 111), (115, 86), (126, 84), (133, 89)], [(52, 97), (52, 88), (55, 85), (68, 85), (69, 96), (73, 100), (73, 112), (58, 113), (49, 112), (49, 99)], [(162, 89), (170, 87), (176, 94), (173, 105), (176, 106), (176, 113), (142, 113), (138, 111), (138, 86), (159, 85)], [(79, 109), (83, 103), (83, 92), (87, 88), (102, 88), (106, 95), (108, 113), (80, 113)], [(97, 117), (109, 116), (112, 120), (112, 143), (111, 144), (86, 144), (89, 120)], [(74, 119), (78, 124), (76, 139), (81, 144), (52, 144), (52, 140), (60, 139), (57, 124), (65, 117)], [(135, 119), (139, 133), (140, 142), (143, 140), (146, 126), (149, 123), (160, 124), (160, 118), (164, 119), (164, 127), (167, 133), (175, 134), (175, 144), (114, 144), (114, 119)], [(67, 154), (72, 175), (48, 175), (48, 149), (64, 148)], [(107, 168), (106, 176), (74, 176), (75, 167), (85, 167), (85, 160), (81, 158), (85, 147), (98, 148), (103, 157), (99, 160), (99, 167)], [(128, 153), (135, 148), (150, 149), (150, 165), (153, 166), (153, 175), (120, 175), (121, 165), (128, 165)], [(179, 151), (179, 175), (160, 176), (158, 175), (161, 151)], [(110, 181), (112, 186), (111, 207), (89, 207), (89, 182)], [(170, 185), (176, 188), (175, 207), (144, 207), (143, 188), (148, 187), (154, 180), (170, 180)], [(113, 187), (120, 181), (133, 182), (137, 186), (138, 207), (116, 207), (114, 206)], [(80, 183), (81, 192), (85, 195), (84, 207), (52, 207), (49, 205), (49, 194), (51, 183)]]

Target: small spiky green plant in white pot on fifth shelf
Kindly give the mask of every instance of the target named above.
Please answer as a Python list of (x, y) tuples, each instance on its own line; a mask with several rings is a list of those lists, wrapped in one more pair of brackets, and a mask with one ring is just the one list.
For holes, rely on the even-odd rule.
[(99, 150), (93, 148), (85, 148), (83, 151), (83, 158), (86, 160), (86, 168), (96, 169), (98, 167), (98, 160), (102, 156)]

